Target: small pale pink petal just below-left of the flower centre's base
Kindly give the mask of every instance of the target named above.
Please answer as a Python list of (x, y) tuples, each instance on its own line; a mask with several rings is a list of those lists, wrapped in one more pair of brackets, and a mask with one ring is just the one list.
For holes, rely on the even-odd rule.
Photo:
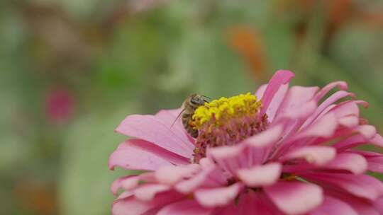
[(190, 178), (195, 173), (198, 173), (200, 166), (196, 163), (190, 165), (179, 166), (163, 166), (155, 172), (155, 178), (158, 182), (173, 185), (184, 178)]

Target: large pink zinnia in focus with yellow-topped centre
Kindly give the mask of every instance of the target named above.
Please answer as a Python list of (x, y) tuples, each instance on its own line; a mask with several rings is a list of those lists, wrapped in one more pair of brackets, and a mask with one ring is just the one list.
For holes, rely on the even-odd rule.
[(112, 214), (383, 214), (383, 184), (365, 174), (383, 173), (383, 155), (354, 149), (383, 146), (360, 118), (367, 103), (343, 81), (289, 88), (292, 77), (201, 106), (196, 139), (171, 127), (180, 109), (126, 117), (116, 132), (135, 139), (109, 168), (147, 171), (113, 182)]

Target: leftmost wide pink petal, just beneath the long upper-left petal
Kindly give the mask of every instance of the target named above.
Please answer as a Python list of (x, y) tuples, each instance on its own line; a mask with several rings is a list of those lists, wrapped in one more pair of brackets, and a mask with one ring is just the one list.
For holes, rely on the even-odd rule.
[[(142, 144), (143, 147), (140, 146)], [(123, 146), (121, 146), (123, 145)], [(116, 151), (111, 153), (109, 157), (109, 168), (113, 170), (115, 166), (129, 170), (157, 170), (162, 165), (172, 165), (167, 158), (171, 158), (170, 152), (157, 150), (154, 146), (152, 151), (145, 151), (146, 148), (150, 149), (150, 143), (142, 140), (128, 140), (118, 146)], [(162, 151), (155, 153), (155, 151)], [(164, 157), (160, 156), (163, 155)], [(168, 157), (165, 157), (169, 155)], [(179, 159), (182, 160), (182, 159)]]

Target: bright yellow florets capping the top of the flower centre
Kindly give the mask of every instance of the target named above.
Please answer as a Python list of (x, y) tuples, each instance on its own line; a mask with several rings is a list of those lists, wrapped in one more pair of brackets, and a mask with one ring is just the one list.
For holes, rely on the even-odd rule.
[(257, 114), (262, 103), (251, 93), (235, 95), (231, 98), (222, 97), (200, 106), (194, 112), (192, 124), (195, 129), (209, 122), (209, 125), (221, 126), (233, 118)]

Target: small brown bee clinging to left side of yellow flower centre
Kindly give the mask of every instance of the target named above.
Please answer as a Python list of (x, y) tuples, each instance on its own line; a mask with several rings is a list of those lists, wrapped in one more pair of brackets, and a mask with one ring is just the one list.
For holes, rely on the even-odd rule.
[(196, 93), (189, 95), (187, 99), (184, 100), (184, 103), (182, 103), (182, 111), (179, 113), (176, 120), (174, 120), (174, 122), (177, 121), (181, 116), (184, 129), (194, 138), (198, 136), (198, 130), (194, 129), (193, 124), (191, 124), (191, 117), (193, 117), (194, 112), (197, 108), (199, 108), (199, 106), (205, 105), (205, 103), (209, 102), (206, 98), (208, 97), (205, 95), (198, 95)]

